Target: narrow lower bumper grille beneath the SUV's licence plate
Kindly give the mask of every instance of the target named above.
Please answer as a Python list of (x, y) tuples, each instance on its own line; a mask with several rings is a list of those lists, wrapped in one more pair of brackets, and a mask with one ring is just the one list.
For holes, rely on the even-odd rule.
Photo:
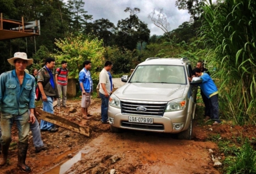
[(162, 124), (145, 124), (145, 123), (130, 123), (122, 121), (122, 127), (136, 128), (136, 129), (147, 129), (147, 130), (164, 130)]

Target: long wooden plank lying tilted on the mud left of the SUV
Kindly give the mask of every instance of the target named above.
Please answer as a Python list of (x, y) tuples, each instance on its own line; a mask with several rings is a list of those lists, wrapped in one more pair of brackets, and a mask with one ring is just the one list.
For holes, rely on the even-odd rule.
[(65, 118), (58, 116), (58, 115), (45, 112), (39, 108), (37, 108), (36, 111), (40, 114), (39, 118), (41, 120), (53, 123), (55, 125), (58, 125), (65, 129), (71, 130), (73, 132), (80, 133), (86, 137), (90, 137), (91, 128), (88, 126), (80, 126), (79, 124), (71, 122)]

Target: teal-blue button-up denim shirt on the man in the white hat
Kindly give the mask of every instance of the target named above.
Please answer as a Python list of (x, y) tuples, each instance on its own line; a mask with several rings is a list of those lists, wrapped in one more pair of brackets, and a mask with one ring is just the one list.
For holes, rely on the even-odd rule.
[(22, 85), (15, 70), (0, 75), (1, 111), (10, 114), (24, 114), (35, 108), (35, 78), (25, 73)]

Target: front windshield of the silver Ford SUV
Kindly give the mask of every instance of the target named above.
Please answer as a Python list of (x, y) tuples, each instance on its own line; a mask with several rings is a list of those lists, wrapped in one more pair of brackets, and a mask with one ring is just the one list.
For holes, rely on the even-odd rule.
[(186, 84), (185, 69), (178, 65), (141, 65), (130, 79), (134, 82)]

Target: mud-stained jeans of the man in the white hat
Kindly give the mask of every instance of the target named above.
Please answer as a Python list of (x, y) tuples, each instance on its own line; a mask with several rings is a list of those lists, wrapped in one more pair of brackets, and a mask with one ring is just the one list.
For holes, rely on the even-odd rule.
[(2, 136), (0, 138), (1, 144), (10, 144), (11, 139), (11, 128), (14, 122), (17, 124), (19, 142), (28, 144), (28, 132), (29, 132), (29, 114), (28, 111), (21, 115), (9, 114), (1, 112), (1, 128)]

